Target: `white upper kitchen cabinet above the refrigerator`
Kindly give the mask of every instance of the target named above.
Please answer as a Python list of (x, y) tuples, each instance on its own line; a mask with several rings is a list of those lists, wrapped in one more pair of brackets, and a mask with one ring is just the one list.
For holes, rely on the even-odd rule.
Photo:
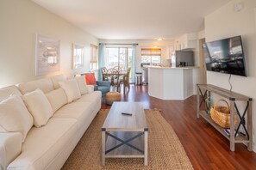
[(175, 50), (186, 50), (197, 48), (197, 33), (186, 33), (178, 39), (175, 39)]

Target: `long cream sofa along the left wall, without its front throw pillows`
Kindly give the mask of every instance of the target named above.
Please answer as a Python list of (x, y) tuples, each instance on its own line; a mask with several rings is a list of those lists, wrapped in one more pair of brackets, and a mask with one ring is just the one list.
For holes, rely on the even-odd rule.
[(3, 169), (55, 170), (63, 166), (100, 110), (102, 97), (100, 91), (87, 86), (85, 94), (70, 102), (63, 94), (66, 91), (59, 87), (59, 81), (65, 80), (66, 76), (59, 75), (0, 89), (1, 101), (10, 94), (22, 96), (39, 88), (53, 108), (53, 116), (47, 124), (33, 125), (23, 142), (21, 132), (4, 132), (0, 124), (0, 164)]

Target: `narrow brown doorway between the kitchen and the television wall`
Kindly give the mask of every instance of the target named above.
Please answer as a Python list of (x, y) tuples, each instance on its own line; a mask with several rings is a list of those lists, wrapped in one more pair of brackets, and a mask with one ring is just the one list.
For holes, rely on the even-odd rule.
[(207, 83), (207, 73), (206, 73), (206, 65), (205, 65), (205, 56), (203, 52), (203, 44), (205, 43), (205, 39), (199, 39), (199, 58), (200, 58), (200, 75), (201, 82), (203, 84)]

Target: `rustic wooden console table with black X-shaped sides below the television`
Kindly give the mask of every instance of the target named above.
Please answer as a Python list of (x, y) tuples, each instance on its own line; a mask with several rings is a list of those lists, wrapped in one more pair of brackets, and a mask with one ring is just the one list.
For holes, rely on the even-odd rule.
[[(209, 115), (209, 106), (206, 104), (206, 99), (210, 97), (211, 93), (218, 94), (224, 98), (227, 98), (230, 103), (230, 136), (228, 136), (223, 128), (216, 124)], [(201, 97), (202, 98), (201, 98)], [(246, 102), (247, 106), (244, 112), (240, 113), (235, 101)], [(201, 106), (204, 103), (204, 110), (201, 110)], [(237, 113), (238, 124), (234, 124), (234, 114)], [(247, 121), (246, 121), (247, 114)], [(230, 92), (227, 89), (219, 88), (210, 84), (197, 84), (197, 118), (199, 115), (209, 122), (215, 129), (222, 133), (230, 141), (230, 150), (234, 151), (235, 143), (247, 143), (247, 149), (252, 151), (253, 147), (253, 118), (252, 118), (252, 98), (249, 98), (242, 94)], [(246, 134), (239, 132), (240, 127), (243, 127)], [(236, 130), (236, 131), (235, 131)]]

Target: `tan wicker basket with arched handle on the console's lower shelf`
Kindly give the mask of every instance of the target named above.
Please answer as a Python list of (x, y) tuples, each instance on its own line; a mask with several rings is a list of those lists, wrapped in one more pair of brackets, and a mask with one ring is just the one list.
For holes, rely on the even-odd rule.
[[(217, 106), (220, 101), (223, 101), (227, 106)], [(230, 128), (230, 109), (226, 100), (217, 100), (215, 106), (210, 108), (210, 117), (216, 124), (222, 126), (222, 128)], [(234, 115), (234, 124), (237, 124), (237, 115)]]

